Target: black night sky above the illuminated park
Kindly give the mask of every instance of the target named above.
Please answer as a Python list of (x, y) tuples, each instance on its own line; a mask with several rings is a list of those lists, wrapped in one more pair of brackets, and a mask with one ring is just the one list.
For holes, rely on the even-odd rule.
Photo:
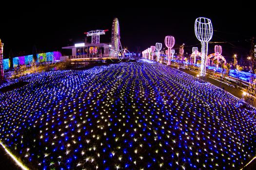
[[(161, 5), (164, 6), (164, 5)], [(176, 39), (175, 49), (185, 44), (185, 53), (191, 53), (192, 47), (200, 49), (200, 42), (194, 32), (197, 17), (208, 17), (212, 20), (214, 34), (211, 42), (222, 46), (222, 54), (232, 60), (234, 53), (238, 57), (247, 57), (250, 51), (250, 39), (256, 36), (254, 26), (255, 14), (251, 7), (211, 7), (202, 12), (199, 7), (190, 8), (117, 8), (94, 10), (73, 7), (42, 7), (8, 10), (0, 25), (0, 38), (4, 43), (4, 56), (10, 49), (32, 54), (33, 45), (38, 51), (61, 51), (61, 47), (82, 42), (85, 34), (91, 30), (109, 31), (100, 36), (101, 42), (110, 42), (111, 26), (114, 17), (118, 17), (121, 43), (129, 51), (143, 51), (155, 45), (164, 44), (166, 35)], [(246, 6), (246, 5), (244, 5)], [(250, 5), (249, 5), (250, 6)], [(28, 10), (29, 9), (29, 10)], [(46, 9), (46, 10), (45, 10)], [(195, 10), (193, 10), (195, 9)], [(14, 14), (11, 17), (7, 14)], [(88, 41), (91, 38), (88, 37)], [(214, 43), (209, 45), (209, 53), (214, 52)]]

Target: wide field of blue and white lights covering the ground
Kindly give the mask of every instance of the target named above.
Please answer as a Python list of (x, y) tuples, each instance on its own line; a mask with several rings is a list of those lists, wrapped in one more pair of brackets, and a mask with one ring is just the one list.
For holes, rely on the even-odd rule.
[(158, 63), (28, 75), (0, 94), (0, 140), (35, 169), (239, 169), (256, 110)]

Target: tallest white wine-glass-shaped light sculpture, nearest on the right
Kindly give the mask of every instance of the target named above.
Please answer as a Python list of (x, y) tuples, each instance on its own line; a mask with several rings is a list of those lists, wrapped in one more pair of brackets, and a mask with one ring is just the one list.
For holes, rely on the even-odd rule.
[(200, 76), (204, 78), (206, 72), (208, 42), (213, 37), (213, 25), (211, 20), (205, 17), (198, 17), (195, 21), (195, 34), (202, 45)]

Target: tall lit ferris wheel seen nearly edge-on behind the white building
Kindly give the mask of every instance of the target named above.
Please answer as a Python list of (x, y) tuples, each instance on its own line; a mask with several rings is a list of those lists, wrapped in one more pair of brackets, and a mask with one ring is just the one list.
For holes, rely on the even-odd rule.
[(120, 43), (120, 29), (119, 29), (119, 22), (118, 18), (114, 18), (112, 23), (112, 38), (111, 38), (111, 45), (112, 49), (116, 52), (119, 51), (119, 49), (122, 49), (122, 45)]

